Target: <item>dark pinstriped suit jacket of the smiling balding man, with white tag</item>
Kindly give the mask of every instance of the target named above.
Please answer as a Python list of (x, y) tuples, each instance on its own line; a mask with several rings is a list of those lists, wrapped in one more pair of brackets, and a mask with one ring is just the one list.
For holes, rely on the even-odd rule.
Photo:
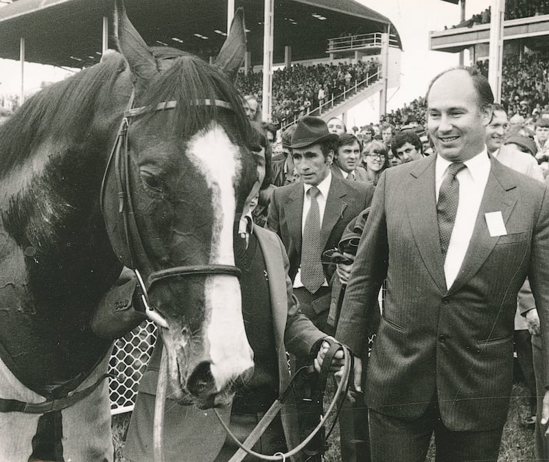
[[(382, 175), (336, 337), (360, 354), (386, 278), (384, 312), (366, 374), (366, 403), (380, 413), (413, 420), (436, 391), (447, 428), (498, 428), (511, 396), (513, 317), (526, 276), (544, 341), (549, 341), (548, 191), (492, 159), (463, 265), (452, 287), (446, 287), (435, 158)], [(507, 234), (491, 237), (484, 214), (497, 211)]]

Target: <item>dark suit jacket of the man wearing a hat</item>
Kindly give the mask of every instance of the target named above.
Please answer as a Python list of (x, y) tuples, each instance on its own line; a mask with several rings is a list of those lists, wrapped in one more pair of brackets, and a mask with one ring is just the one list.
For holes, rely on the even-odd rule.
[[(331, 175), (321, 230), (320, 247), (323, 250), (338, 246), (345, 226), (370, 205), (373, 191), (374, 187), (371, 184), (343, 180)], [(267, 217), (266, 228), (281, 237), (288, 252), (292, 281), (301, 265), (301, 218), (304, 195), (301, 182), (275, 189)]]

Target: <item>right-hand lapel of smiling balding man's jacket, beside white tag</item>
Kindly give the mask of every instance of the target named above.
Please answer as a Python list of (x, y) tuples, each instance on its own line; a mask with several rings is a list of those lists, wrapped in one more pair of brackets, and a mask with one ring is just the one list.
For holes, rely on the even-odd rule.
[(449, 288), (448, 295), (463, 287), (463, 284), (478, 272), (492, 252), (495, 243), (498, 242), (499, 236), (490, 236), (484, 215), (487, 212), (500, 211), (502, 212), (504, 223), (507, 224), (517, 202), (517, 199), (508, 192), (512, 189), (515, 189), (515, 185), (504, 175), (504, 168), (500, 162), (492, 158), (490, 174), (486, 189), (484, 189), (482, 202), (480, 202), (473, 235), (471, 236), (471, 241), (469, 242), (469, 247), (467, 248), (467, 253), (463, 259), (458, 276), (454, 280), (452, 287)]

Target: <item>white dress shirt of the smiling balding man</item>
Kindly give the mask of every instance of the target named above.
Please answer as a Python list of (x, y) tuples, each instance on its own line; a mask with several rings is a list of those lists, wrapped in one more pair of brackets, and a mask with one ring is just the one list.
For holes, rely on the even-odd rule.
[[(441, 156), (436, 156), (435, 192), (437, 202), (441, 184), (446, 178), (451, 163)], [(482, 202), (482, 196), (490, 174), (490, 158), (486, 149), (463, 163), (467, 168), (456, 175), (459, 182), (458, 212), (452, 230), (452, 237), (450, 237), (446, 260), (444, 261), (447, 289), (452, 287), (454, 280), (456, 280), (469, 248), (478, 210), (480, 209), (480, 202)]]

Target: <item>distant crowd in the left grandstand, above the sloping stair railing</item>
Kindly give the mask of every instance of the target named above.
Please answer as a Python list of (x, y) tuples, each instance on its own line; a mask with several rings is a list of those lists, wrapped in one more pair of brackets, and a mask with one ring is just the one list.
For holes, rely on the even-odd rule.
[[(294, 64), (272, 75), (272, 121), (283, 123), (295, 115), (306, 114), (324, 101), (342, 94), (355, 82), (377, 73), (379, 60), (371, 58), (355, 64)], [(240, 73), (237, 87), (243, 95), (253, 95), (261, 104), (263, 73)]]

